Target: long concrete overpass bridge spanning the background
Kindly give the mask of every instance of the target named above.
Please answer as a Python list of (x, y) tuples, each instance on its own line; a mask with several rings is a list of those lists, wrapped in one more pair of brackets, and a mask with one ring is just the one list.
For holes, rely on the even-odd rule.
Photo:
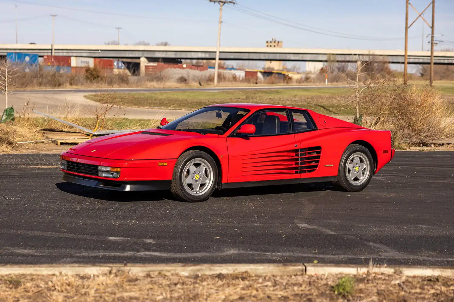
[[(37, 53), (40, 56), (52, 54), (49, 44), (0, 44), (0, 56), (9, 52)], [(54, 45), (54, 54), (119, 59), (189, 59), (214, 60), (215, 47), (142, 46), (142, 45)], [(311, 49), (311, 48), (238, 48), (222, 47), (221, 60), (235, 61), (306, 61), (306, 62), (356, 62), (383, 60), (390, 63), (404, 63), (402, 50), (366, 49)], [(409, 51), (409, 64), (429, 64), (430, 52)], [(454, 52), (435, 52), (434, 64), (454, 65)]]

